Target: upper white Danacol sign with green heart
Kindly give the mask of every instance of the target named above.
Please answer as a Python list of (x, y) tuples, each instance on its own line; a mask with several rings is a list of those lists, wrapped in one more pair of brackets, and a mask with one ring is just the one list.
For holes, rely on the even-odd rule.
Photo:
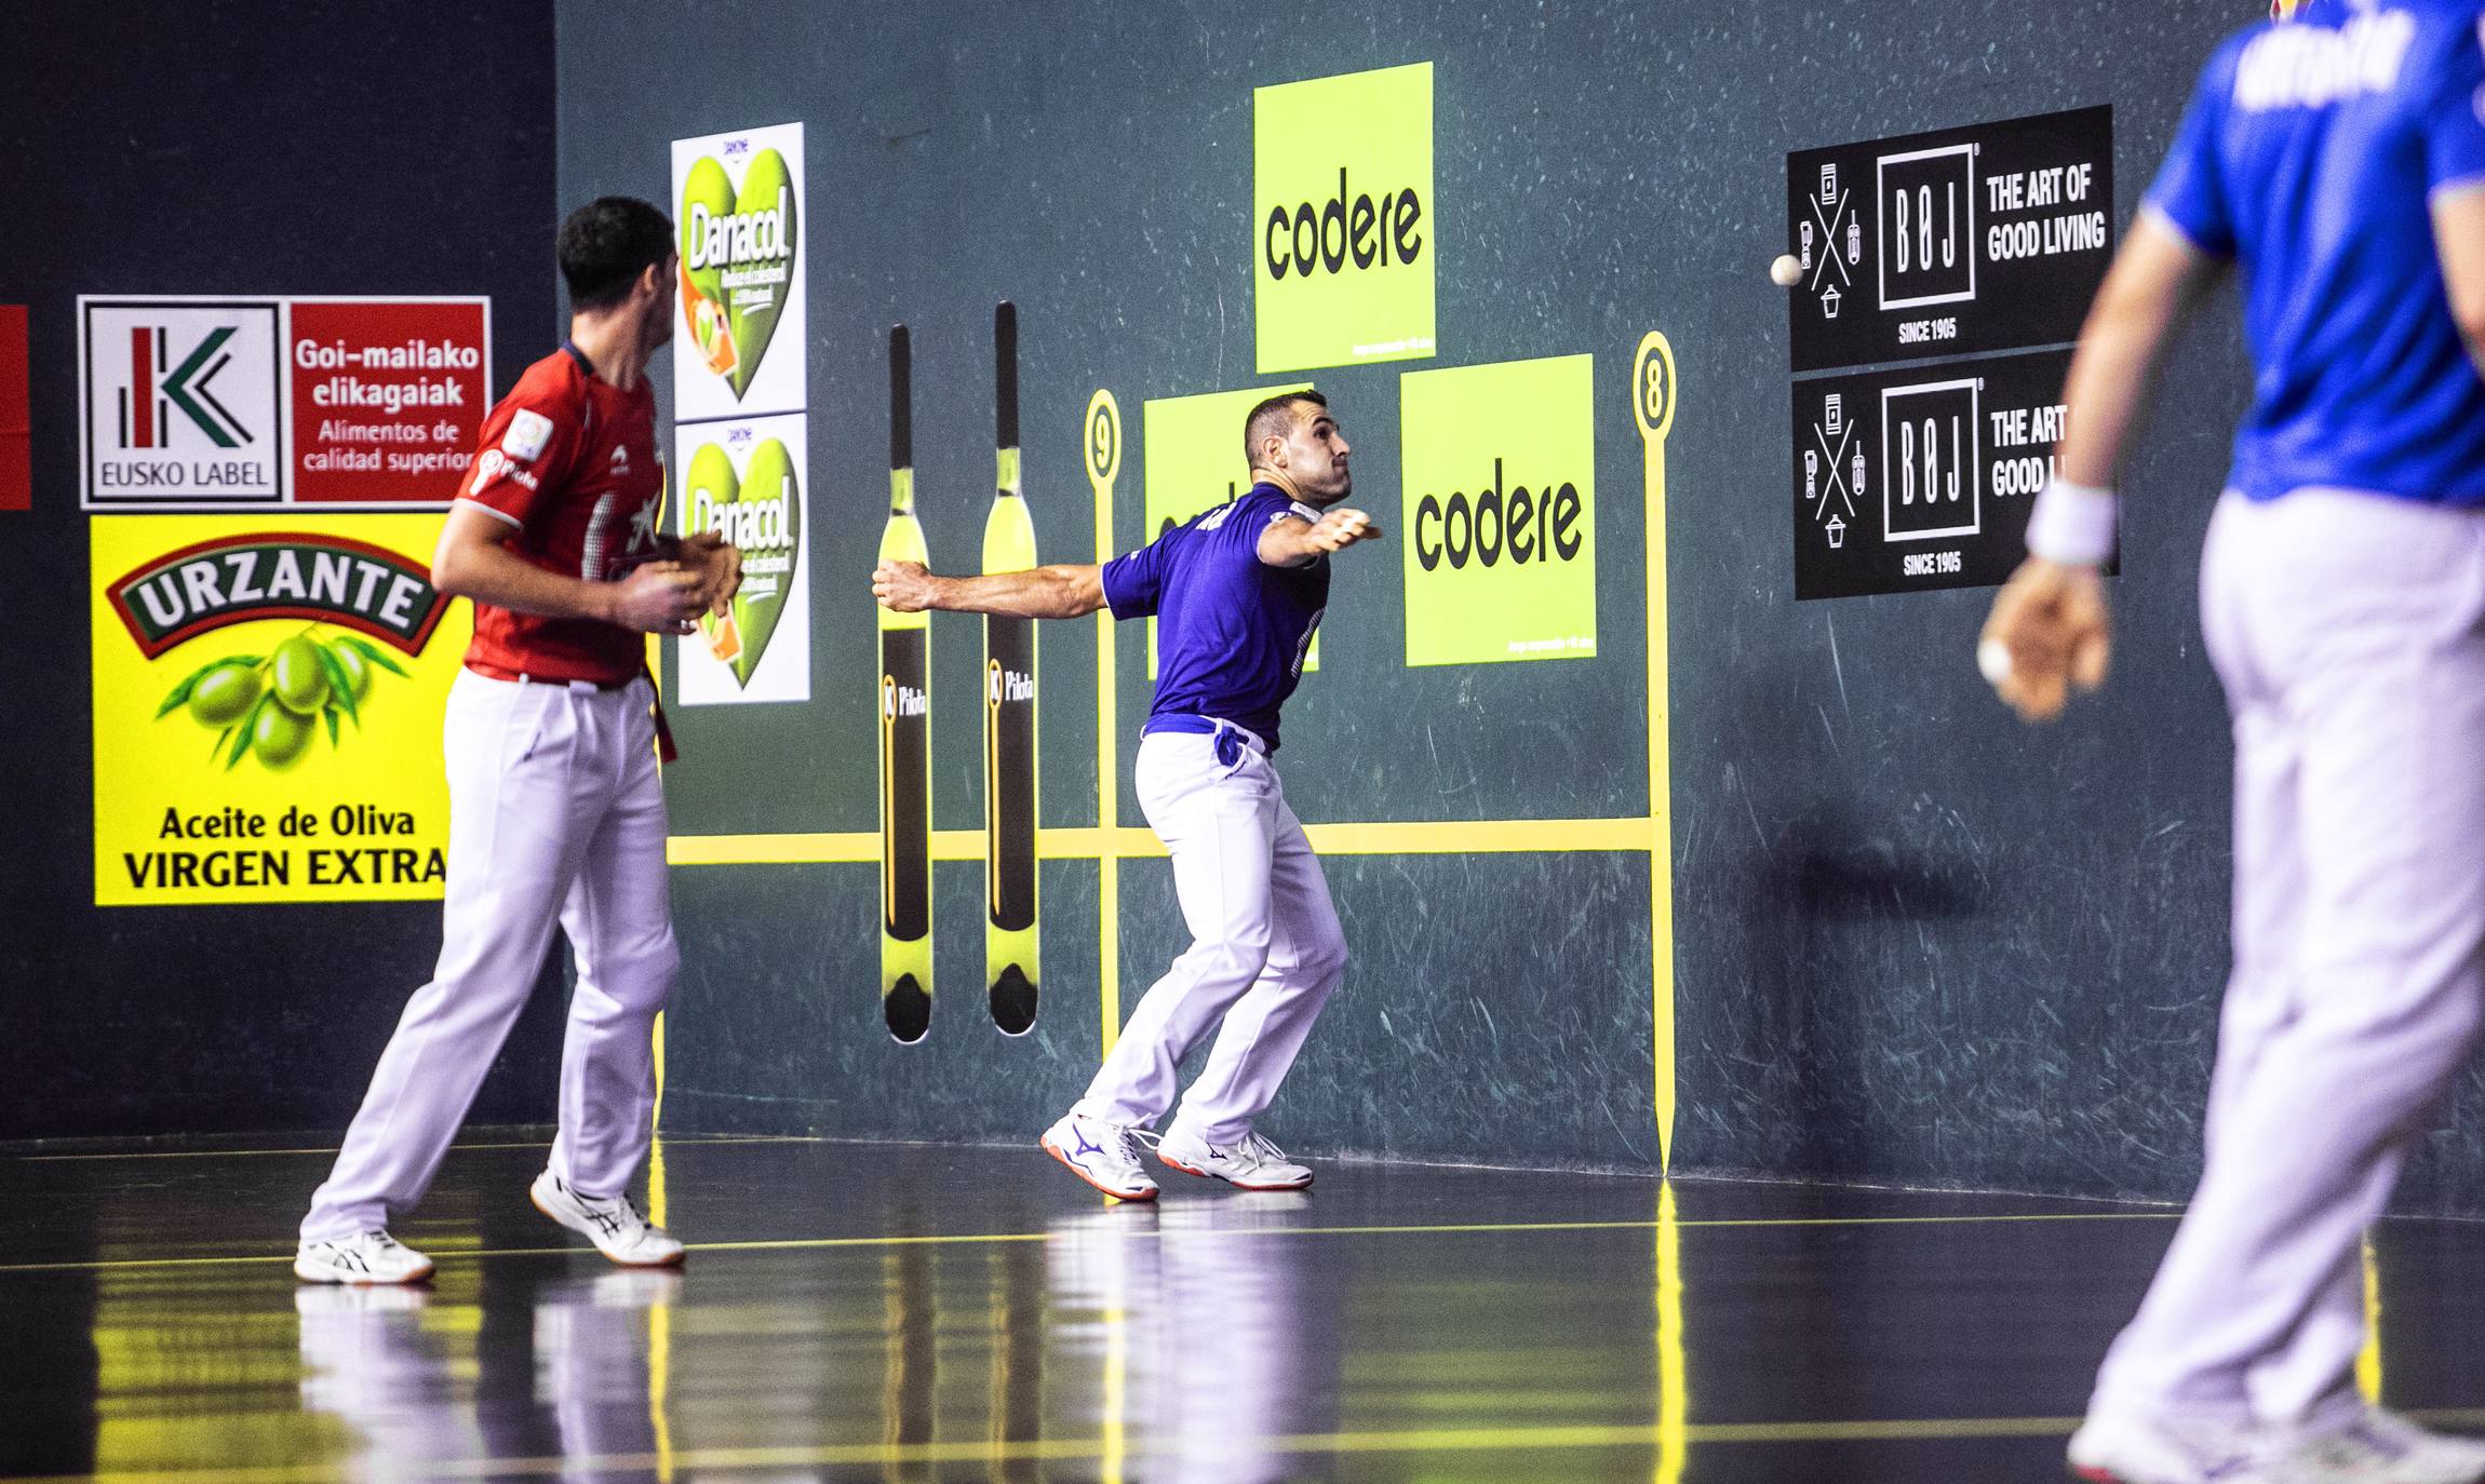
[(673, 420), (800, 413), (803, 124), (673, 139)]

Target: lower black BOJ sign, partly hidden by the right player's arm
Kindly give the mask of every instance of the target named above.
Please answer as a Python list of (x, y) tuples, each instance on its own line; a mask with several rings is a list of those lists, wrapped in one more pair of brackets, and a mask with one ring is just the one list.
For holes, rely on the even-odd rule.
[(1993, 587), (2063, 437), (2070, 350), (1794, 383), (1794, 597)]

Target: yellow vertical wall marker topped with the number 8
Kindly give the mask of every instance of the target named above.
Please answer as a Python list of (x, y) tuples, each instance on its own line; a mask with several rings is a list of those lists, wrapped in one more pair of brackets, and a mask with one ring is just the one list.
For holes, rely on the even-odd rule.
[(1655, 994), (1657, 1163), (1675, 1158), (1675, 830), (1665, 679), (1665, 435), (1675, 425), (1675, 348), (1648, 331), (1630, 365), (1630, 415), (1648, 470), (1648, 947)]

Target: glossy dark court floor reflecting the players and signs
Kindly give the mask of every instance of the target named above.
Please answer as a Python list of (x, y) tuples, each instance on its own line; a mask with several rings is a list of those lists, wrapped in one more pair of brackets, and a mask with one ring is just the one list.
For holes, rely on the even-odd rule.
[[(2172, 1213), (1322, 1163), (1108, 1206), (1034, 1148), (668, 1138), (688, 1268), (477, 1136), (420, 1290), (298, 1288), (328, 1151), (0, 1153), (0, 1477), (2058, 1479)], [(2485, 1225), (2373, 1238), (2366, 1382), (2485, 1427)]]

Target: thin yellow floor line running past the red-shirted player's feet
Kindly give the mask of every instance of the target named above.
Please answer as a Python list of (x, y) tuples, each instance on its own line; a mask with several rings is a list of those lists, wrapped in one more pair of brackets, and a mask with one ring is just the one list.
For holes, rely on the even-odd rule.
[[(1812, 1225), (2028, 1225), (2040, 1221), (2174, 1221), (2179, 1211), (2040, 1211), (2010, 1216), (1735, 1216), (1712, 1221), (1670, 1221), (1682, 1230), (1692, 1228), (1812, 1228)], [(1479, 1235), (1479, 1233), (1575, 1233), (1575, 1230), (1657, 1230), (1657, 1221), (1464, 1221), (1434, 1225), (1233, 1225), (1233, 1228), (1131, 1228), (1113, 1233), (1123, 1240), (1168, 1238), (1267, 1238), (1267, 1235)], [(693, 1253), (803, 1253), (832, 1248), (917, 1248), (917, 1245), (977, 1245), (977, 1243), (1041, 1243), (1051, 1230), (994, 1230), (994, 1233), (929, 1233), (929, 1235), (867, 1235), (867, 1238), (775, 1238), (743, 1243), (686, 1243)], [(1091, 1233), (1093, 1235), (1093, 1233)], [(562, 1258), (581, 1255), (591, 1248), (477, 1248), (440, 1253), (452, 1260), (467, 1258)], [(253, 1263), (291, 1263), (293, 1253), (268, 1253), (253, 1258), (112, 1258), (97, 1263), (0, 1263), (0, 1278), (10, 1273), (102, 1273), (122, 1268), (246, 1268)]]

